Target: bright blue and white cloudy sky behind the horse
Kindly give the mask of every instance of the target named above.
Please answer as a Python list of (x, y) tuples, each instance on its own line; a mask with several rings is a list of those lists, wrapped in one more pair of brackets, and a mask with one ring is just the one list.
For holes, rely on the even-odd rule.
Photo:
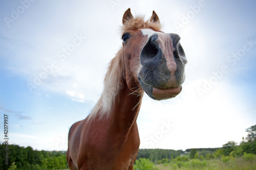
[(188, 63), (182, 92), (137, 119), (140, 148), (238, 144), (256, 123), (255, 1), (0, 1), (0, 139), (66, 151), (69, 128), (88, 116), (122, 46), (123, 13), (177, 33)]

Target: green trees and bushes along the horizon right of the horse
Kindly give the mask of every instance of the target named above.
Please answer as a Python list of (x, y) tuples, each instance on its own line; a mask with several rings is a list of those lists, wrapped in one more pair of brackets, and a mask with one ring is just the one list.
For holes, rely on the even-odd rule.
[(251, 156), (248, 154), (256, 154), (256, 125), (245, 130), (248, 132), (246, 138), (243, 138), (238, 145), (234, 141), (229, 141), (223, 144), (222, 148), (198, 148), (182, 150), (163, 150), (163, 149), (140, 149), (137, 160), (140, 158), (149, 159), (154, 163), (164, 163), (172, 160), (188, 160), (199, 159), (209, 160), (213, 158), (221, 158), (222, 160), (232, 160), (234, 157)]

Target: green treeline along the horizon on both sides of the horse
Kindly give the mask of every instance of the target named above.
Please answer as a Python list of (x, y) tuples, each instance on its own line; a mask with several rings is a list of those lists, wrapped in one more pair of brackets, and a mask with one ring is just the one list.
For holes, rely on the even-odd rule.
[[(164, 149), (140, 149), (136, 162), (139, 160), (152, 161), (154, 163), (178, 163), (177, 166), (188, 163), (204, 163), (202, 161), (220, 158), (223, 162), (232, 162), (235, 157), (243, 159), (255, 159), (256, 154), (256, 125), (246, 129), (248, 135), (243, 138), (238, 145), (234, 141), (223, 144), (222, 148), (209, 149), (187, 149), (164, 150)], [(63, 151), (37, 151), (31, 147), (19, 147), (18, 145), (8, 145), (8, 165), (5, 165), (6, 144), (0, 144), (0, 169), (65, 169), (67, 168), (66, 152)], [(184, 163), (186, 162), (186, 163)], [(181, 166), (182, 165), (182, 166)]]

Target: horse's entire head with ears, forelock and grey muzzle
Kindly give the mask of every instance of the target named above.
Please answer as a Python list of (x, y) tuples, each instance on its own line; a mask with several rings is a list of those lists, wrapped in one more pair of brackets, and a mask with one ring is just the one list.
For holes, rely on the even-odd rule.
[(123, 56), (126, 84), (143, 89), (154, 100), (174, 98), (182, 90), (187, 59), (180, 36), (160, 31), (155, 11), (150, 21), (134, 18), (130, 8), (123, 15)]

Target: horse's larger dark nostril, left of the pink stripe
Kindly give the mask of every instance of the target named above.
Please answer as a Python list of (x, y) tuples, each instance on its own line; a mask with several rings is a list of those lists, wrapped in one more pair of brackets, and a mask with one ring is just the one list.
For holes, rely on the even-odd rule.
[(158, 51), (159, 51), (159, 46), (156, 41), (157, 38), (158, 38), (157, 34), (151, 36), (147, 40), (146, 44), (143, 46), (141, 53), (140, 53), (141, 64), (143, 66), (145, 66), (146, 62), (148, 62), (149, 60), (151, 60), (157, 56)]

